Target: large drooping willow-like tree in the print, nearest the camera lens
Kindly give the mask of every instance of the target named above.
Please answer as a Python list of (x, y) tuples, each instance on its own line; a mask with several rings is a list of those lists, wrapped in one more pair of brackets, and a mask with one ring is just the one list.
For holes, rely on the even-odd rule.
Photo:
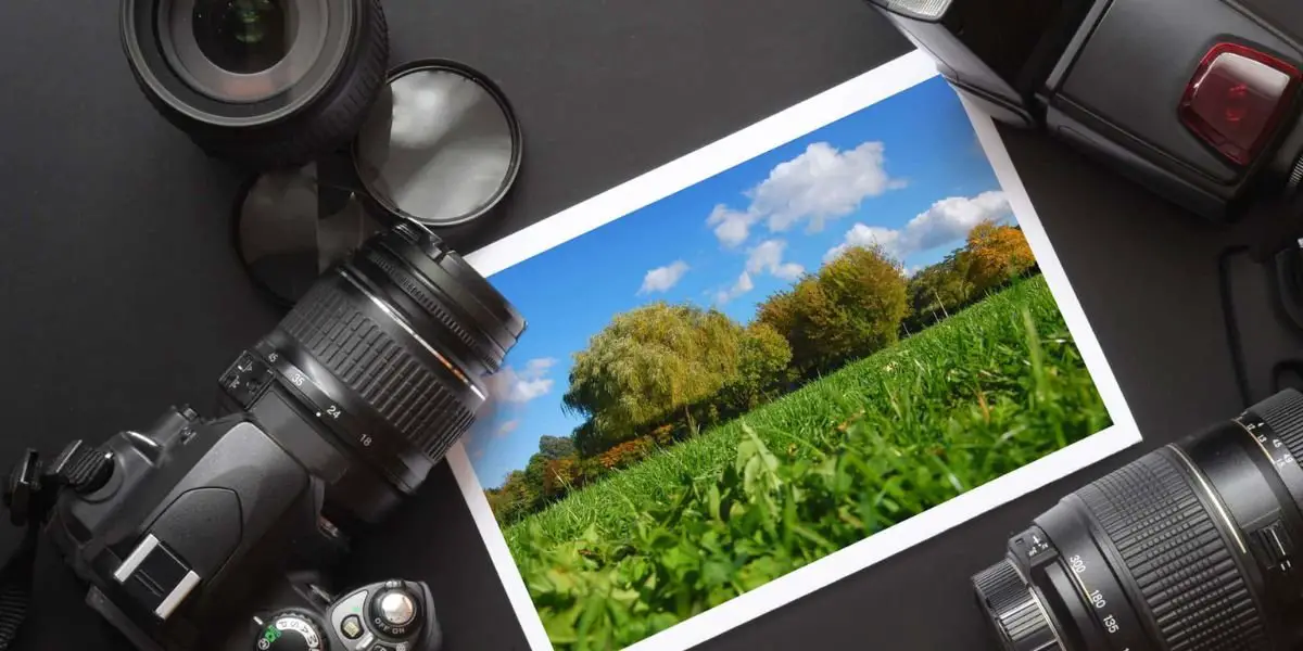
[(655, 302), (616, 315), (575, 354), (562, 398), (592, 422), (580, 447), (631, 439), (718, 392), (736, 372), (741, 335), (723, 312), (692, 305)]

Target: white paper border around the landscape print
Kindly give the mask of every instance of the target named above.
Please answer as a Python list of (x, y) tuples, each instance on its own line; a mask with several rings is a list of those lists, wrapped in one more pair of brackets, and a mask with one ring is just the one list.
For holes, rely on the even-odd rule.
[[(932, 59), (919, 51), (911, 52), (512, 233), (466, 255), (466, 260), (485, 276), (491, 276), (932, 79), (937, 74)], [(964, 103), (964, 108), (972, 120), (979, 142), (995, 172), (995, 177), (1009, 195), (1014, 216), (1022, 225), (1032, 253), (1040, 263), (1041, 272), (1081, 352), (1096, 389), (1109, 410), (1113, 426), (625, 648), (631, 651), (687, 650), (1140, 443), (1140, 432), (1117, 379), (1113, 376), (1085, 312), (1054, 254), (1049, 237), (1036, 216), (1036, 210), (1014, 169), (1009, 152), (995, 130), (995, 124), (989, 116), (976, 111), (968, 103)], [(498, 577), (507, 590), (507, 596), (530, 648), (533, 651), (551, 650), (552, 644), (543, 629), (542, 620), (507, 548), (507, 540), (489, 506), (489, 500), (485, 497), (483, 487), (470, 465), (464, 443), (456, 444), (450, 450), (447, 460), (470, 508), (476, 526), (489, 548)]]

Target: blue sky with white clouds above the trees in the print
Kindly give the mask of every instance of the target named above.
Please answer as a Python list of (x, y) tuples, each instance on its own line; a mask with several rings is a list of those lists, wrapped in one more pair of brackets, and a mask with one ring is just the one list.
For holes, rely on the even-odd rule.
[(757, 305), (839, 246), (876, 242), (907, 272), (963, 245), (1009, 203), (954, 91), (933, 78), (632, 212), (490, 280), (529, 322), (466, 437), (500, 486), (581, 419), (562, 411), (572, 355), (611, 318), (652, 301)]

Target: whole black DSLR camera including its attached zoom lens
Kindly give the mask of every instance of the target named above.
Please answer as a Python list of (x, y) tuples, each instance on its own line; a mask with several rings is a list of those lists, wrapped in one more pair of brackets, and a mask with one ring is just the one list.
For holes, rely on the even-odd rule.
[(33, 525), (27, 551), (44, 522), (141, 651), (437, 651), (427, 586), (336, 592), (326, 569), (466, 431), (524, 327), (438, 237), (399, 224), (240, 354), (215, 418), (172, 409), (48, 465), (29, 450), (7, 504)]

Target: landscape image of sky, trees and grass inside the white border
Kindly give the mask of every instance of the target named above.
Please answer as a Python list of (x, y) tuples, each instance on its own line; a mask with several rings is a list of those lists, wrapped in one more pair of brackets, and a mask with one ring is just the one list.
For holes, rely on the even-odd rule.
[(490, 279), (465, 452), (558, 650), (623, 648), (1108, 428), (939, 77)]

